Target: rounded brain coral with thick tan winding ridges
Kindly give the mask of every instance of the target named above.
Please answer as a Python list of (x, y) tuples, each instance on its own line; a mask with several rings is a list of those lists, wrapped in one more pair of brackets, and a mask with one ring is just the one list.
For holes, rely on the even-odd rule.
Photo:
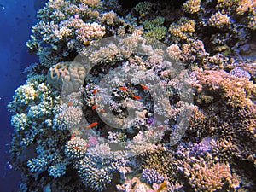
[(73, 92), (84, 83), (85, 68), (76, 61), (59, 62), (50, 67), (47, 81), (57, 90)]

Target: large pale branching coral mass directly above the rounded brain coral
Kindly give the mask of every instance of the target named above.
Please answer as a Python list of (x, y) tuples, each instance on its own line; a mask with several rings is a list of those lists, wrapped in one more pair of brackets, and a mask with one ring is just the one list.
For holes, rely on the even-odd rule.
[[(112, 13), (111, 10), (109, 13)], [(49, 1), (43, 9), (38, 10), (38, 23), (32, 27), (31, 39), (26, 45), (33, 53), (44, 58), (41, 59), (42, 65), (51, 67), (58, 61), (65, 61), (68, 55), (73, 55), (72, 51), (80, 53), (105, 34), (116, 33), (113, 27), (108, 27), (112, 24), (105, 22), (106, 16), (101, 1)], [(115, 20), (116, 28), (125, 26), (133, 31), (134, 26), (118, 15)]]

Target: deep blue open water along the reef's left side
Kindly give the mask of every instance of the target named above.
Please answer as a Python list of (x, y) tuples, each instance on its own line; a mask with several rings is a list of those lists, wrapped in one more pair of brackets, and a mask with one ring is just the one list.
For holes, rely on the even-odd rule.
[[(35, 5), (37, 6), (37, 5)], [(34, 0), (0, 0), (0, 191), (18, 191), (20, 172), (9, 166), (6, 144), (13, 128), (6, 105), (15, 89), (25, 83), (22, 71), (38, 57), (27, 53), (26, 40), (36, 23)]]

